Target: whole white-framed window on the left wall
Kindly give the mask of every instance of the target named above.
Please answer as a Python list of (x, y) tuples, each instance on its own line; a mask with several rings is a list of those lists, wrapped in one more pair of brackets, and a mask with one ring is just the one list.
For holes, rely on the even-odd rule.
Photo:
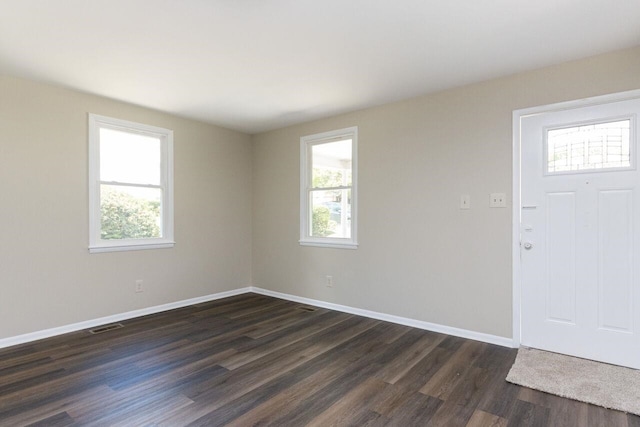
[(89, 114), (89, 251), (173, 247), (173, 131)]

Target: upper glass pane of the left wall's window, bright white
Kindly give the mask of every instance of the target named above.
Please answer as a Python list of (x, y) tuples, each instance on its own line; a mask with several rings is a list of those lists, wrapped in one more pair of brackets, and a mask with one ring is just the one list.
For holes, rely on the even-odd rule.
[(160, 139), (100, 129), (100, 180), (160, 185)]

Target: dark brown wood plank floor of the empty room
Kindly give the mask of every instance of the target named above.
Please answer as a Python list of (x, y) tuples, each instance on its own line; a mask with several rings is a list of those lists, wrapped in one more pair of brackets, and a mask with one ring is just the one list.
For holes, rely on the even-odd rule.
[(0, 425), (640, 426), (507, 383), (516, 350), (255, 294), (0, 351)]

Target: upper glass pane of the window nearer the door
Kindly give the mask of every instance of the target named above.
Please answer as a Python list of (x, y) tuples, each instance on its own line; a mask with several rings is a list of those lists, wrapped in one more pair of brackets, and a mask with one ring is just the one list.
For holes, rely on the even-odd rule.
[(351, 139), (311, 147), (312, 187), (351, 186)]

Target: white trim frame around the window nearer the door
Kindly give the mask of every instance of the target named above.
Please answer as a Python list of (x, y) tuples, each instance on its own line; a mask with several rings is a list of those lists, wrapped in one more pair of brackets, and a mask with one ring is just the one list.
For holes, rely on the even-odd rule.
[[(311, 190), (311, 149), (341, 139), (351, 139), (351, 238), (312, 237), (309, 233), (311, 219), (309, 193)], [(318, 246), (338, 249), (357, 249), (358, 218), (358, 127), (353, 126), (300, 138), (300, 240), (302, 246)]]

